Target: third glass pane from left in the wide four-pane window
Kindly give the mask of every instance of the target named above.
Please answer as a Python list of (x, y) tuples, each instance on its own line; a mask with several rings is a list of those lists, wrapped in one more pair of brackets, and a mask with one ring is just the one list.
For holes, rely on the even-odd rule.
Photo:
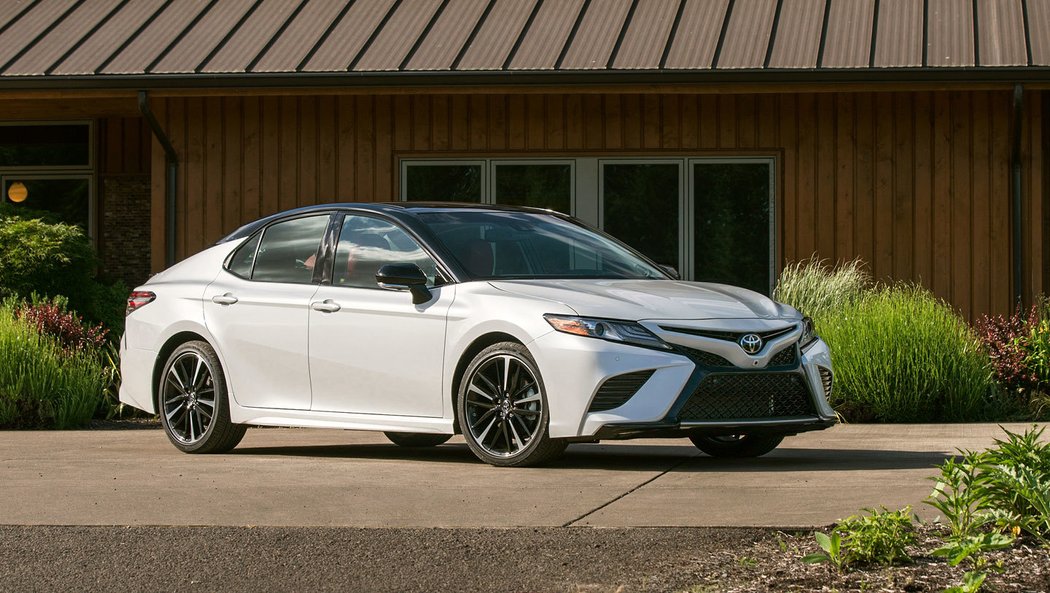
[(678, 165), (602, 167), (605, 231), (656, 263), (678, 266)]

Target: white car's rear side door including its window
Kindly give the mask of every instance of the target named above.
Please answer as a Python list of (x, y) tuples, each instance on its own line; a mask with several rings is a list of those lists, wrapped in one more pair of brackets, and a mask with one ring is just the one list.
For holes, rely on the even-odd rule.
[(310, 409), (309, 312), (329, 220), (322, 213), (268, 226), (205, 291), (205, 322), (239, 405)]

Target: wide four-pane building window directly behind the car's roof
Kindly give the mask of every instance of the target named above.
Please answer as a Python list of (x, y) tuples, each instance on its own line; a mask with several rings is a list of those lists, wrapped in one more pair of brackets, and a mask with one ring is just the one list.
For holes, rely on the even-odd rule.
[(772, 157), (401, 161), (401, 198), (550, 208), (598, 227), (682, 278), (770, 294)]

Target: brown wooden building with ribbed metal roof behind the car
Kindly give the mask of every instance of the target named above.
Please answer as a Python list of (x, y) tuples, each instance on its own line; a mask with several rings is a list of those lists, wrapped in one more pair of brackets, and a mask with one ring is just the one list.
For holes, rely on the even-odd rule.
[(816, 254), (970, 318), (1050, 293), (1050, 0), (19, 1), (0, 64), (5, 199), (66, 196), (130, 282), (279, 210), (440, 198), (763, 292)]

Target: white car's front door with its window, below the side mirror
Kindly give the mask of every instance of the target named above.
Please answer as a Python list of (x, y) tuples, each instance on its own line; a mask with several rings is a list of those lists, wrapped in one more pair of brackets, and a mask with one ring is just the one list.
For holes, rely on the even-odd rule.
[[(376, 282), (386, 263), (415, 263), (432, 298), (413, 304), (407, 292)], [(338, 234), (332, 283), (310, 311), (312, 409), (441, 417), (445, 323), (455, 285), (434, 287), (434, 260), (385, 219), (346, 214)]]

